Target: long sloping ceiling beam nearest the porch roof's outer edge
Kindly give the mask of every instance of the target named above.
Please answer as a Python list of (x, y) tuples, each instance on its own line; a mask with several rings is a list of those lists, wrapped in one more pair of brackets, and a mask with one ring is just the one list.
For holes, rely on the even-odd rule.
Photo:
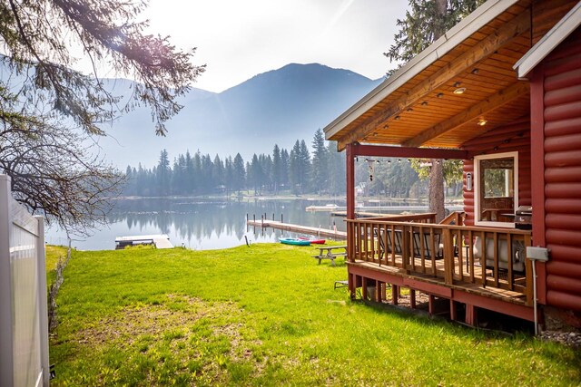
[(427, 79), (419, 82), (404, 95), (399, 97), (378, 115), (371, 117), (367, 122), (359, 125), (358, 128), (348, 132), (338, 141), (338, 148), (343, 150), (347, 144), (364, 138), (369, 132), (374, 131), (382, 122), (405, 111), (410, 105), (425, 97), (430, 92), (434, 92), (444, 83), (449, 82), (458, 74), (465, 72), (474, 64), (486, 59), (497, 49), (511, 42), (514, 38), (530, 29), (530, 10), (524, 11), (512, 21), (504, 24), (496, 33), (490, 34), (487, 38), (475, 44), (466, 53), (463, 53), (449, 62), (447, 65), (433, 73)]

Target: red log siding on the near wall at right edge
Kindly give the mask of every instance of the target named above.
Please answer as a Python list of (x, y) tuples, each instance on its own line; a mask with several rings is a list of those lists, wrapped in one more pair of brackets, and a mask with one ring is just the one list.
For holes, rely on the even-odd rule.
[[(581, 311), (581, 30), (539, 67), (544, 95), (547, 305)], [(534, 209), (534, 208), (533, 208)], [(533, 225), (535, 229), (535, 225)]]

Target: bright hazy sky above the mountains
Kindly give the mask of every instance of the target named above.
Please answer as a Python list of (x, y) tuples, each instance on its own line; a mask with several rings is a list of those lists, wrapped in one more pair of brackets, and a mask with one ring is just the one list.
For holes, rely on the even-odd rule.
[(198, 47), (195, 87), (222, 92), (288, 63), (321, 63), (377, 79), (407, 0), (150, 0), (152, 31)]

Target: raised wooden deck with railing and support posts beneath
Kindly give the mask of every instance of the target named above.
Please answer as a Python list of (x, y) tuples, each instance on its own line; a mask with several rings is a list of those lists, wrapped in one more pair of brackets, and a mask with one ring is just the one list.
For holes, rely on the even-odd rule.
[(416, 291), (428, 294), (430, 307), (434, 297), (448, 299), (452, 319), (463, 305), (467, 324), (476, 323), (478, 308), (534, 320), (532, 266), (523, 256), (530, 231), (426, 220), (348, 220), (352, 297), (361, 288), (364, 298), (384, 301), (389, 284), (409, 288), (414, 298)]

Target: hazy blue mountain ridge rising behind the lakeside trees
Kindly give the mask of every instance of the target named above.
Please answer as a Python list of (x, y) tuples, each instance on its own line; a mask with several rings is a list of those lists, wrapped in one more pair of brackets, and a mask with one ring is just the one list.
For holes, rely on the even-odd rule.
[[(296, 140), (308, 144), (323, 128), (381, 80), (369, 80), (349, 70), (311, 64), (288, 64), (261, 73), (224, 92), (192, 89), (180, 100), (182, 111), (167, 123), (166, 137), (155, 136), (150, 112), (138, 108), (125, 113), (99, 140), (102, 155), (113, 165), (151, 168), (160, 151), (170, 158), (200, 150), (223, 159), (240, 152), (271, 153), (274, 144), (291, 150)], [(113, 92), (127, 93), (127, 81), (109, 80)]]

